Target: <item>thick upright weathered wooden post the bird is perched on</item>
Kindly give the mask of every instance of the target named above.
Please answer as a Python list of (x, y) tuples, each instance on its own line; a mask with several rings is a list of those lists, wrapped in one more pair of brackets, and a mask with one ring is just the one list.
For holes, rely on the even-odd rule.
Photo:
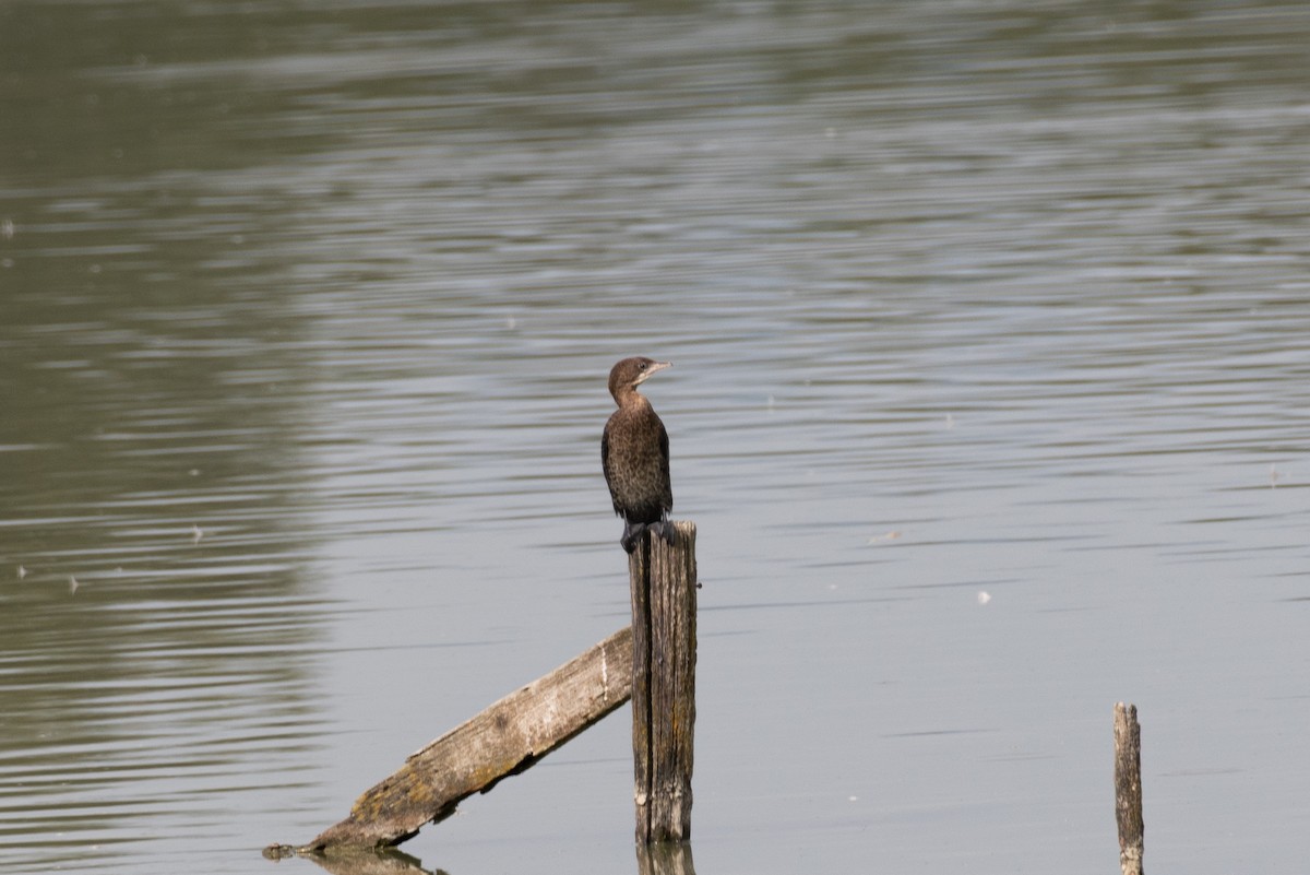
[(637, 842), (692, 836), (696, 726), (696, 524), (646, 532), (629, 557)]

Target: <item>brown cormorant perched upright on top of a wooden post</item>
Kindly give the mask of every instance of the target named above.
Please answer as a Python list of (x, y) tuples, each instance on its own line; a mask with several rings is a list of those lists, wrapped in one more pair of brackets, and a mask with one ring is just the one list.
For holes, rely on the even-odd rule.
[(668, 432), (651, 402), (637, 390), (652, 373), (672, 367), (645, 356), (624, 359), (609, 371), (609, 394), (618, 410), (610, 414), (600, 438), (600, 465), (605, 472), (614, 513), (624, 517), (620, 544), (631, 553), (650, 528), (673, 541), (668, 512), (673, 486), (668, 475)]

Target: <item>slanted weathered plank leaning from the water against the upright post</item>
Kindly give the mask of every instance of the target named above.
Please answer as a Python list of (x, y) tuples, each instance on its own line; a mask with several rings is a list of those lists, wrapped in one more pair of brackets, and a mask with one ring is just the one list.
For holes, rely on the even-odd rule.
[(355, 800), (346, 820), (297, 850), (388, 847), (411, 838), (455, 813), (460, 800), (524, 772), (626, 702), (631, 680), (627, 627), (410, 754)]

